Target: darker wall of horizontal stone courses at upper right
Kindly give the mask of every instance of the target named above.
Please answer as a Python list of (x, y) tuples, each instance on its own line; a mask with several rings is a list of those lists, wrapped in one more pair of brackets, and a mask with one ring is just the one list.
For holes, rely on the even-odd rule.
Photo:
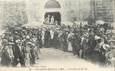
[(92, 0), (92, 15), (96, 20), (114, 21), (114, 0)]

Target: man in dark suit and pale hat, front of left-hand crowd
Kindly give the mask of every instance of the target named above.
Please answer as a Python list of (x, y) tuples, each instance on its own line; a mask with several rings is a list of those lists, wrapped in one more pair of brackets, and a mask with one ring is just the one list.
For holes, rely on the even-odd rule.
[(14, 54), (14, 61), (13, 66), (17, 66), (18, 63), (21, 66), (25, 66), (24, 61), (24, 48), (22, 47), (22, 42), (19, 35), (14, 34), (14, 45), (13, 45), (13, 54)]

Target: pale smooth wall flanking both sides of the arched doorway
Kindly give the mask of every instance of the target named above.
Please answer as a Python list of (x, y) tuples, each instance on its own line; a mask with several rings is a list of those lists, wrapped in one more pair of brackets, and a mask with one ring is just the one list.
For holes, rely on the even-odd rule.
[[(45, 13), (45, 3), (48, 0), (28, 1), (27, 8), (30, 20), (42, 21)], [(62, 21), (68, 21), (72, 18), (82, 20), (87, 17), (90, 11), (90, 0), (57, 0), (61, 5)], [(84, 6), (85, 4), (85, 6)]]

